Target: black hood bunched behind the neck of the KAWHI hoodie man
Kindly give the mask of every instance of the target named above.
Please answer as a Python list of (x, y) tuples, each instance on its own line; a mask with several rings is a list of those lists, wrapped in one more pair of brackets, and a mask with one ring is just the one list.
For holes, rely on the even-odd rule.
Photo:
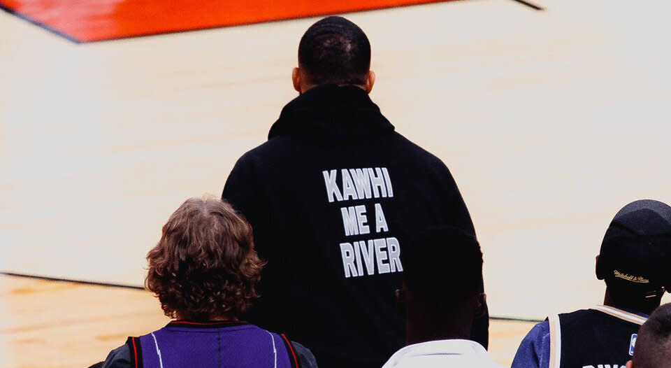
[(326, 141), (359, 141), (394, 131), (366, 91), (355, 86), (320, 85), (282, 108), (268, 139), (307, 136)]

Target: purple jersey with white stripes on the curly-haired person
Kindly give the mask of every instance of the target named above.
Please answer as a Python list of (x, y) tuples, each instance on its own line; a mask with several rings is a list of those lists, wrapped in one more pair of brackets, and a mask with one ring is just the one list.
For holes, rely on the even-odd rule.
[(127, 344), (136, 368), (298, 368), (287, 337), (244, 322), (178, 320)]

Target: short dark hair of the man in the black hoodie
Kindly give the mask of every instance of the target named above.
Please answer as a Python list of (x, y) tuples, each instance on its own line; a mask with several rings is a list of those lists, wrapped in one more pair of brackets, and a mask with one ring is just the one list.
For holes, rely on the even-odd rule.
[(314, 85), (363, 85), (370, 70), (368, 37), (343, 17), (326, 17), (303, 34), (298, 64)]

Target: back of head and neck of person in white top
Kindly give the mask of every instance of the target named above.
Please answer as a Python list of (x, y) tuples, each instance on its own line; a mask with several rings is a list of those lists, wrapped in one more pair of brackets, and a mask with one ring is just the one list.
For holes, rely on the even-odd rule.
[(475, 236), (455, 227), (420, 230), (404, 240), (406, 343), (470, 339), (484, 310), (482, 252)]

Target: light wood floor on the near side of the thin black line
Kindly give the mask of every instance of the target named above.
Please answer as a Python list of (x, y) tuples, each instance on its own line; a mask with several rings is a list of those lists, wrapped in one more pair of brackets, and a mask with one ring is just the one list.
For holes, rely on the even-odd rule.
[[(168, 322), (150, 292), (0, 276), (0, 367), (88, 367), (128, 336)], [(491, 322), (493, 357), (510, 364), (531, 323)]]

